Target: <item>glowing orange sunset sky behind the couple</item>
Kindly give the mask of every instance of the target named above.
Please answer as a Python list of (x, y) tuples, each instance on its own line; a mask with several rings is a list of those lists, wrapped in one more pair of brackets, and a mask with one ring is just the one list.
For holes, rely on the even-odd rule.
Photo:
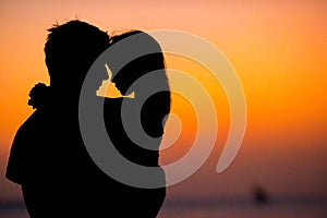
[[(37, 82), (49, 83), (46, 29), (73, 19), (109, 34), (189, 32), (220, 49), (238, 73), (247, 105), (246, 132), (234, 161), (218, 174), (230, 125), (226, 94), (202, 65), (166, 55), (168, 69), (183, 71), (207, 88), (218, 117), (208, 161), (169, 187), (169, 197), (246, 196), (255, 184), (271, 195), (327, 196), (327, 1), (13, 0), (0, 3), (0, 199), (21, 197), (4, 171), (13, 136), (33, 112), (29, 89)], [(161, 152), (162, 164), (175, 161), (192, 146), (197, 110), (206, 108), (192, 109), (192, 102), (173, 95), (172, 112), (182, 130), (175, 144)], [(168, 122), (166, 137), (173, 137), (175, 123)]]

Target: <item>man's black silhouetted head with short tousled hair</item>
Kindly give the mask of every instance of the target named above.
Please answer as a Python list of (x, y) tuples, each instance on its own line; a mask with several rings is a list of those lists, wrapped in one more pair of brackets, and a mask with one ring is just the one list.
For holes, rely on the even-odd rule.
[(78, 20), (56, 24), (48, 31), (45, 53), (51, 80), (84, 80), (92, 63), (109, 46), (106, 32)]

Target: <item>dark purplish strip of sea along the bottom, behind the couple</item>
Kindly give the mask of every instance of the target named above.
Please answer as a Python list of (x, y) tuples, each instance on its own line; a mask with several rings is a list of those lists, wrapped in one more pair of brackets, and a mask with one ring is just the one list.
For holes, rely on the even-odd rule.
[[(168, 198), (158, 218), (326, 218), (326, 197)], [(0, 218), (28, 218), (22, 201), (1, 201)]]

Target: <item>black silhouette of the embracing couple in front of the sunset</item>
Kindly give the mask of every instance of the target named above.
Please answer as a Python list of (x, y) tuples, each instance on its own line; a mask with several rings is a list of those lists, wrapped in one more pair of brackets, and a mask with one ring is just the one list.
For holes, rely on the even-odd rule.
[[(49, 32), (45, 53), (50, 86), (37, 84), (29, 93), (28, 105), (36, 110), (16, 132), (7, 178), (22, 186), (32, 218), (156, 217), (166, 187), (138, 189), (108, 177), (89, 157), (78, 125), (78, 97), (84, 78), (92, 63), (110, 46), (109, 41), (113, 45), (136, 33), (143, 34), (149, 43), (155, 40), (142, 32), (109, 39), (107, 33), (81, 21), (56, 25)], [(168, 86), (160, 52), (136, 59), (114, 72), (113, 80), (124, 94), (133, 81), (158, 69), (162, 70), (162, 83)], [(94, 96), (101, 82), (108, 78), (105, 68), (104, 72), (96, 73), (98, 80), (90, 84)], [(136, 87), (134, 92), (136, 97), (129, 99), (131, 101), (137, 101), (137, 94), (142, 95), (146, 88)], [(104, 116), (110, 138), (130, 160), (158, 166), (159, 143), (149, 145), (154, 150), (148, 150), (126, 136), (120, 118), (122, 102), (123, 98), (105, 99)], [(142, 125), (149, 135), (159, 138), (158, 142), (164, 134), (162, 119), (169, 110), (169, 92), (155, 94), (142, 109)]]

